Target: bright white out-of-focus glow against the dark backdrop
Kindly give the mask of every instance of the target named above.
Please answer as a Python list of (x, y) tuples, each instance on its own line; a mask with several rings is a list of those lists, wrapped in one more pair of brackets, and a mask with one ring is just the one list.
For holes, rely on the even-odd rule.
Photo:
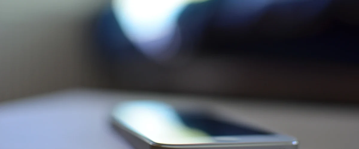
[(187, 0), (114, 0), (113, 6), (124, 34), (136, 48), (146, 56), (162, 59), (158, 57), (164, 51), (176, 50), (171, 44), (186, 3)]

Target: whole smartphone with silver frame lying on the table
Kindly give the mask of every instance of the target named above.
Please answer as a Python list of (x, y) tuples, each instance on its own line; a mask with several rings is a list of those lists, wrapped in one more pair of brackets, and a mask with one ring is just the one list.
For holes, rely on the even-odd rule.
[(292, 136), (198, 109), (179, 110), (161, 101), (125, 101), (113, 109), (112, 124), (136, 149), (298, 148), (299, 142)]

